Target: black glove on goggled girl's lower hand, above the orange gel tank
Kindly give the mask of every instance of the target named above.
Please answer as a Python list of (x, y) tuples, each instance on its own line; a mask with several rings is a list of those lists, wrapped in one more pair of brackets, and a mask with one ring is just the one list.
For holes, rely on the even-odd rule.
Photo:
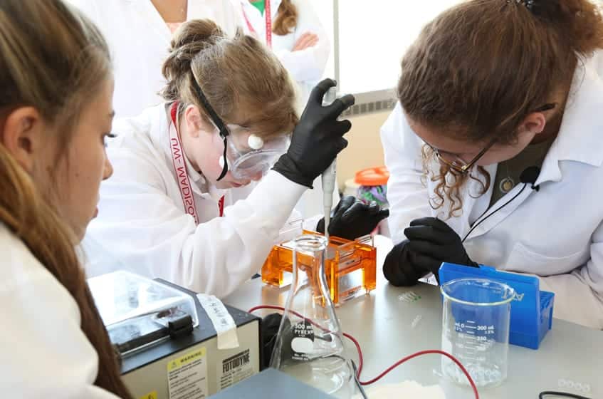
[[(377, 202), (365, 204), (352, 197), (343, 197), (331, 212), (329, 234), (345, 239), (357, 239), (370, 234), (377, 224), (389, 216), (389, 209), (381, 209)], [(325, 234), (325, 218), (320, 219), (316, 231)]]

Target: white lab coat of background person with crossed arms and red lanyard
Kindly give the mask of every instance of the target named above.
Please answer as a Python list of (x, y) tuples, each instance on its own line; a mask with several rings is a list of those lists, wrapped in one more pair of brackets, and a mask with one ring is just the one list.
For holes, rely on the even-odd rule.
[[(234, 8), (240, 14), (238, 20), (241, 26), (243, 26), (243, 31), (251, 34), (246, 19), (243, 17), (244, 10), (249, 23), (258, 35), (257, 38), (266, 44), (266, 19), (260, 14), (260, 10), (248, 0), (231, 1), (233, 1)], [(292, 2), (298, 10), (298, 24), (291, 33), (286, 35), (281, 36), (272, 33), (272, 50), (287, 71), (289, 71), (293, 80), (298, 82), (300, 90), (299, 104), (300, 109), (303, 109), (303, 105), (308, 101), (310, 90), (323, 78), (331, 51), (331, 44), (329, 35), (327, 35), (323, 25), (320, 24), (320, 20), (312, 9), (312, 5), (307, 0), (293, 0)], [(272, 22), (274, 24), (278, 15), (280, 0), (270, 0), (270, 6)], [(295, 41), (308, 32), (315, 33), (318, 36), (316, 46), (306, 48), (302, 51), (291, 51), (295, 45)]]

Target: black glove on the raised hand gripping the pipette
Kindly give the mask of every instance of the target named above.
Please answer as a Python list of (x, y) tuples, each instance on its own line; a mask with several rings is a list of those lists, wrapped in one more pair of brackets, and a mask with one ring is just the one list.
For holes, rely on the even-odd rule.
[(300, 122), (293, 130), (289, 149), (273, 167), (289, 180), (306, 187), (313, 188), (316, 177), (347, 147), (347, 140), (342, 136), (352, 128), (352, 123), (337, 118), (354, 105), (355, 100), (353, 95), (345, 95), (323, 107), (325, 93), (335, 85), (332, 79), (325, 79), (312, 90)]

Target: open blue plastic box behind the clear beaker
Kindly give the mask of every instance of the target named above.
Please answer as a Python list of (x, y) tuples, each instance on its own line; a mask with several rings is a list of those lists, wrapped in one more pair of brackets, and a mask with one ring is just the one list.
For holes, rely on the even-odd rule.
[(515, 289), (511, 302), (509, 343), (538, 349), (540, 341), (552, 326), (552, 307), (555, 294), (540, 291), (540, 281), (534, 276), (498, 271), (491, 266), (470, 267), (443, 263), (439, 270), (440, 284), (451, 280), (478, 278), (498, 281)]

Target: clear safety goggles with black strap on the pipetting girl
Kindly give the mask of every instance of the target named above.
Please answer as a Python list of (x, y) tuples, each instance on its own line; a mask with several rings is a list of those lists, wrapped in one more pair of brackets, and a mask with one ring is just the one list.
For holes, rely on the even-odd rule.
[(289, 136), (284, 135), (265, 141), (261, 137), (253, 135), (248, 128), (240, 125), (226, 125), (211, 107), (196, 80), (192, 79), (192, 81), (201, 104), (224, 143), (224, 154), (220, 158), (222, 172), (217, 181), (222, 180), (229, 170), (237, 180), (252, 180), (260, 174), (265, 175), (273, 167), (278, 157), (287, 151), (290, 143)]

